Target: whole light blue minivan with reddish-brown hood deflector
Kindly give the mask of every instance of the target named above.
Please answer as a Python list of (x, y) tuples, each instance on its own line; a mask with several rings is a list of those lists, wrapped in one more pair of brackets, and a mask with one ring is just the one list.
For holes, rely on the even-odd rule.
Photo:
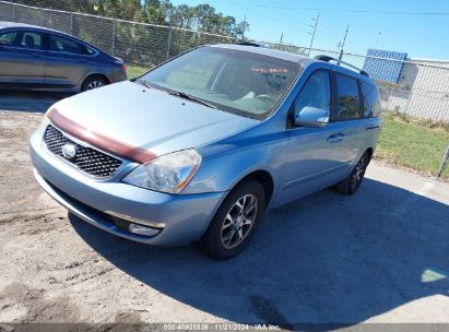
[(380, 131), (379, 93), (365, 72), (334, 61), (203, 46), (62, 99), (31, 138), (36, 179), (106, 232), (196, 242), (228, 259), (267, 210), (359, 187)]

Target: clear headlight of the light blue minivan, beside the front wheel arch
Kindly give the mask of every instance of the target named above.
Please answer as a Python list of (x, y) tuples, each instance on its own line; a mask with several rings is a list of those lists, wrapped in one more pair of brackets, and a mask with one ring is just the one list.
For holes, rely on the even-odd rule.
[(201, 155), (194, 150), (185, 150), (154, 158), (132, 170), (123, 178), (129, 185), (179, 193), (201, 165)]

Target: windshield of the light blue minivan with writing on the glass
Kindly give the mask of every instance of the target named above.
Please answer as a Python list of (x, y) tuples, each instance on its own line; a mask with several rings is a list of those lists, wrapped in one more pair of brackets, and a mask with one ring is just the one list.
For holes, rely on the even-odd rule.
[(141, 80), (224, 111), (264, 119), (284, 97), (299, 69), (296, 62), (249, 51), (201, 47), (152, 70)]

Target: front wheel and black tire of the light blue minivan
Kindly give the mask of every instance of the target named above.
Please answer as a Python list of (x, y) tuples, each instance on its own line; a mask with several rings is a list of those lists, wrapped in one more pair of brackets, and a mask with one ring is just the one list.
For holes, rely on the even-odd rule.
[[(245, 198), (246, 200), (244, 201)], [(256, 199), (255, 203), (251, 201), (252, 199)], [(238, 211), (239, 204), (241, 205), (243, 202), (245, 202), (244, 206), (241, 211)], [(249, 210), (250, 205), (256, 205), (256, 211)], [(262, 185), (255, 180), (239, 185), (223, 201), (208, 230), (198, 242), (198, 247), (214, 260), (233, 258), (252, 238), (260, 224), (264, 209), (265, 191)], [(244, 210), (248, 210), (248, 214), (245, 214)], [(234, 220), (234, 217), (235, 221), (233, 223), (231, 220)], [(249, 227), (247, 223), (251, 218), (252, 224)], [(240, 235), (245, 236), (239, 240)]]

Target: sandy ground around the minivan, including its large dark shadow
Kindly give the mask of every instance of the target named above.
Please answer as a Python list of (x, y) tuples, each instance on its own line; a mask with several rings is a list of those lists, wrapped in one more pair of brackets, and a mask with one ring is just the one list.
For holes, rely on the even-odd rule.
[(0, 322), (449, 325), (447, 183), (374, 163), (356, 195), (272, 211), (241, 256), (213, 262), (68, 215), (33, 177), (40, 119), (0, 112)]

